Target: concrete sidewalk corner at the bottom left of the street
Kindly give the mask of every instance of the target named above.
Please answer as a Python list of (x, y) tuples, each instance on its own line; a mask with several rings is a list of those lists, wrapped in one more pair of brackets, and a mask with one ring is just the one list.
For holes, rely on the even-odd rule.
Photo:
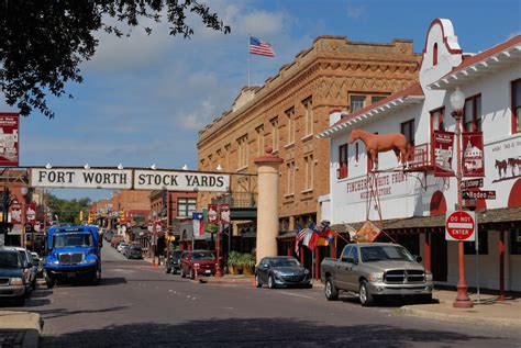
[(0, 311), (0, 347), (37, 347), (42, 324), (37, 313)]

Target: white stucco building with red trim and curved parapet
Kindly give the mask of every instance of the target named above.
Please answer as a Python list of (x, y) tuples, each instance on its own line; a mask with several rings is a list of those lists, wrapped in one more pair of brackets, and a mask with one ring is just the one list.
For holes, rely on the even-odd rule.
[[(484, 134), (483, 190), (497, 191), (496, 200), (477, 202), (480, 287), (499, 289), (502, 278), (505, 290), (521, 291), (520, 35), (466, 54), (451, 21), (436, 19), (426, 33), (419, 83), (353, 113), (332, 111), (330, 128), (318, 135), (331, 142), (331, 190), (320, 199), (321, 213), (333, 225), (380, 223), (389, 236), (423, 257), (436, 283), (455, 285), (457, 244), (445, 240), (444, 223), (445, 212), (455, 210), (457, 202), (456, 178), (433, 175), (432, 134), (455, 131), (450, 96), (456, 87), (466, 96), (464, 131)], [(364, 144), (347, 144), (353, 128), (403, 133), (414, 145), (417, 171), (393, 170), (397, 160), (389, 151), (379, 155), (379, 172), (368, 176)], [(452, 169), (456, 170), (455, 156)], [(378, 183), (381, 221), (368, 179)], [(475, 287), (476, 256), (474, 246), (466, 244), (466, 280)]]

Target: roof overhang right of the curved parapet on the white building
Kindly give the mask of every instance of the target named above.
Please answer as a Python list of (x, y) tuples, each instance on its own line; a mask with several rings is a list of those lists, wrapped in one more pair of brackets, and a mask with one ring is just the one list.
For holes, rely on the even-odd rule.
[(476, 61), (468, 67), (450, 72), (437, 81), (429, 85), (428, 88), (431, 90), (446, 90), (457, 86), (465, 86), (476, 79), (520, 61), (521, 45), (511, 46), (480, 61)]

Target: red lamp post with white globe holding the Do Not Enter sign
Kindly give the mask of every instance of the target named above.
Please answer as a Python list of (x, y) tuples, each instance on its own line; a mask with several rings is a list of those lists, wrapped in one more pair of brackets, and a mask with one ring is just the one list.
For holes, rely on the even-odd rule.
[[(463, 209), (463, 198), (462, 198), (462, 116), (463, 116), (463, 106), (465, 105), (465, 94), (462, 92), (459, 87), (456, 87), (456, 90), (451, 94), (451, 106), (453, 112), (451, 113), (454, 120), (456, 121), (456, 190), (457, 190), (457, 210)], [(473, 302), (468, 298), (468, 285), (465, 281), (465, 256), (463, 251), (463, 240), (457, 243), (458, 249), (458, 259), (459, 259), (459, 279), (457, 281), (457, 295), (456, 300), (453, 302), (453, 306), (456, 308), (470, 308), (473, 307)]]

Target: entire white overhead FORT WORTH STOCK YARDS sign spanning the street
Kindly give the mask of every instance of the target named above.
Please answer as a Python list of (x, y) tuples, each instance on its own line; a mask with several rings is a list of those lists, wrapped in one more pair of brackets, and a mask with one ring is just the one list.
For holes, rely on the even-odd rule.
[(31, 168), (33, 188), (224, 192), (230, 176), (146, 169)]

